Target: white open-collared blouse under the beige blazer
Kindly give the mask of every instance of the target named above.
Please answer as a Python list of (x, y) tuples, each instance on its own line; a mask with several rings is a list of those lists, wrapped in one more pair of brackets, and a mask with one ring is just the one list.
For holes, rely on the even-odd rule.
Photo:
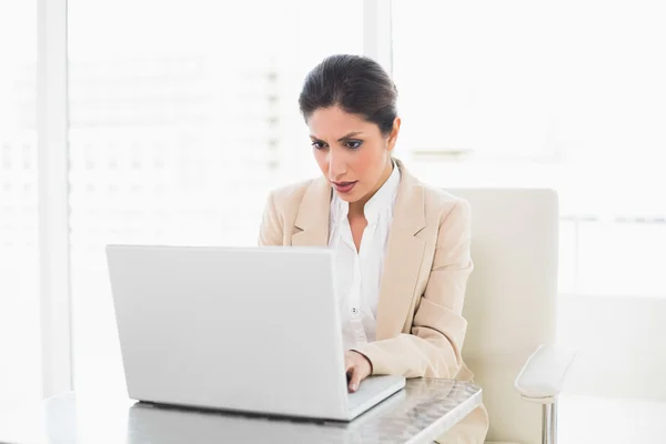
[(384, 254), (398, 184), (400, 171), (394, 164), (389, 180), (365, 204), (367, 226), (363, 231), (359, 252), (347, 219), (349, 203), (335, 192), (331, 199), (329, 248), (335, 251), (344, 350), (375, 340)]

